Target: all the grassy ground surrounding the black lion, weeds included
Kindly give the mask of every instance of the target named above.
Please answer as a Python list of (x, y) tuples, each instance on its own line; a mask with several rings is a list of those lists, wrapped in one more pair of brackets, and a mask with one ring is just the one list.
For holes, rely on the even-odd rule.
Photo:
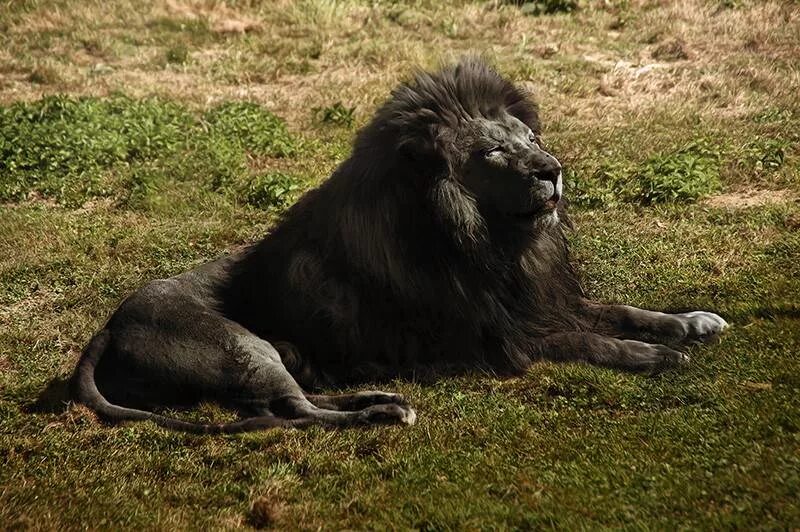
[[(467, 51), (540, 101), (588, 291), (717, 310), (719, 344), (659, 377), (393, 383), (406, 429), (63, 404), (126, 294), (257, 239)], [(800, 527), (798, 57), (789, 1), (0, 2), (0, 528)]]

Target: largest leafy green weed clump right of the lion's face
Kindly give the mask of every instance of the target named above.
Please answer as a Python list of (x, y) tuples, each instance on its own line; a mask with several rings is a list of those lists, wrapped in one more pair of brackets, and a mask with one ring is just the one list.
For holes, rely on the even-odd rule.
[(643, 204), (696, 201), (719, 190), (718, 151), (694, 142), (651, 157), (636, 171), (633, 199)]

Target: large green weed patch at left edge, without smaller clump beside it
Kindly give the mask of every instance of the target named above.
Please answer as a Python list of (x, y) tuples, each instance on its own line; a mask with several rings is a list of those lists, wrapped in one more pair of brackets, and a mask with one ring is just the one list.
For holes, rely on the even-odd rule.
[(107, 195), (102, 171), (169, 152), (192, 117), (162, 100), (50, 96), (0, 108), (0, 199)]

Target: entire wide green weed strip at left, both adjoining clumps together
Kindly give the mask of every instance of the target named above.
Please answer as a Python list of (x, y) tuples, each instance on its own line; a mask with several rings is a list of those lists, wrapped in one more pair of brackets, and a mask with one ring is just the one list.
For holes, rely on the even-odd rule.
[[(117, 194), (136, 206), (153, 191), (153, 172), (235, 190), (248, 154), (295, 146), (283, 121), (253, 103), (224, 103), (199, 120), (156, 98), (51, 96), (0, 107), (0, 200), (38, 194), (75, 206)], [(128, 177), (115, 181), (120, 171)]]

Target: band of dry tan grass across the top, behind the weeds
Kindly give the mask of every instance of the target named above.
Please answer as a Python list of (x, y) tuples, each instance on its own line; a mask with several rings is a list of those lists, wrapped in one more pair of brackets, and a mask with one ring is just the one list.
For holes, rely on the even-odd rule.
[[(10, 73), (0, 82), (0, 101), (120, 90), (199, 105), (245, 98), (303, 128), (309, 109), (337, 100), (356, 105), (363, 119), (415, 67), (466, 52), (494, 58), (552, 102), (548, 107), (570, 108), (579, 120), (622, 120), (670, 104), (741, 116), (776, 97), (796, 99), (796, 5), (637, 4), (528, 17), (503, 2), (42, 3), (8, 23), (0, 71)], [(181, 35), (165, 24), (194, 26)], [(76, 47), (76, 35), (89, 45)], [(158, 66), (176, 39), (185, 41), (190, 61)], [(98, 49), (106, 52), (97, 57)], [(30, 65), (44, 58), (54, 80), (32, 82)]]

